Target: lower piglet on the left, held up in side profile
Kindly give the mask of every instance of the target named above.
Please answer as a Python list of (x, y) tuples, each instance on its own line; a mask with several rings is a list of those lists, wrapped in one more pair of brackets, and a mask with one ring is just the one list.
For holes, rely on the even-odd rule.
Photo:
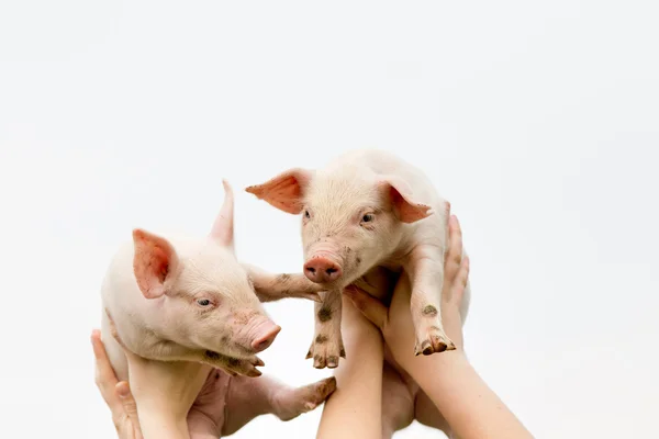
[[(292, 419), (335, 389), (334, 379), (292, 389), (256, 369), (264, 365), (256, 354), (281, 329), (261, 302), (317, 301), (319, 285), (302, 273), (273, 275), (236, 260), (233, 191), (226, 181), (224, 189), (224, 204), (208, 237), (134, 229), (132, 243), (111, 260), (101, 288), (101, 336), (120, 380), (129, 374), (122, 347), (146, 359), (191, 361), (208, 369), (190, 412), (190, 430), (198, 437), (235, 431), (265, 413)], [(231, 419), (224, 419), (225, 410), (232, 412)]]

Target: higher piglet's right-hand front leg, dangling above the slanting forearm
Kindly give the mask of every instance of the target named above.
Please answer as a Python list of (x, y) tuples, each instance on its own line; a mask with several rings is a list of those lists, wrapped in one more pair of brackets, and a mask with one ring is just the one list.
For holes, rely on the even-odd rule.
[(415, 248), (405, 271), (412, 284), (410, 309), (416, 336), (414, 354), (429, 356), (456, 349), (442, 323), (443, 249), (435, 246)]

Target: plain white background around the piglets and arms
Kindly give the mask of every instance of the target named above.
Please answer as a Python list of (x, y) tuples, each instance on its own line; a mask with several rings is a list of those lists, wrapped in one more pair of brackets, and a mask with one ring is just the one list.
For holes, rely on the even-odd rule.
[[(469, 356), (538, 438), (654, 437), (659, 26), (651, 1), (3, 1), (0, 437), (112, 438), (89, 344), (131, 229), (299, 271), (299, 218), (243, 189), (379, 147), (422, 167), (472, 258)], [(268, 305), (290, 384), (312, 304)], [(315, 432), (321, 409), (236, 438)], [(267, 435), (267, 436), (265, 436)], [(400, 438), (440, 434), (414, 425)]]

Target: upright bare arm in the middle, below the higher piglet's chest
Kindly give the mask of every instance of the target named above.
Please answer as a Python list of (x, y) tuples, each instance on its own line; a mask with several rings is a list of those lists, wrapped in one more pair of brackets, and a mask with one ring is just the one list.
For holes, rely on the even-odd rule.
[(317, 439), (382, 437), (382, 336), (343, 299), (346, 359), (335, 369), (336, 391), (325, 402)]

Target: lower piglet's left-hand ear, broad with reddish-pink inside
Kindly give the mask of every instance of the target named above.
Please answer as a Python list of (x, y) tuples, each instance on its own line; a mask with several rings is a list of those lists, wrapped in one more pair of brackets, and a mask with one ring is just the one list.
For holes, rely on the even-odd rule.
[(146, 299), (165, 294), (165, 281), (170, 279), (178, 266), (178, 256), (167, 239), (141, 228), (133, 230), (135, 257), (133, 271), (137, 285)]

